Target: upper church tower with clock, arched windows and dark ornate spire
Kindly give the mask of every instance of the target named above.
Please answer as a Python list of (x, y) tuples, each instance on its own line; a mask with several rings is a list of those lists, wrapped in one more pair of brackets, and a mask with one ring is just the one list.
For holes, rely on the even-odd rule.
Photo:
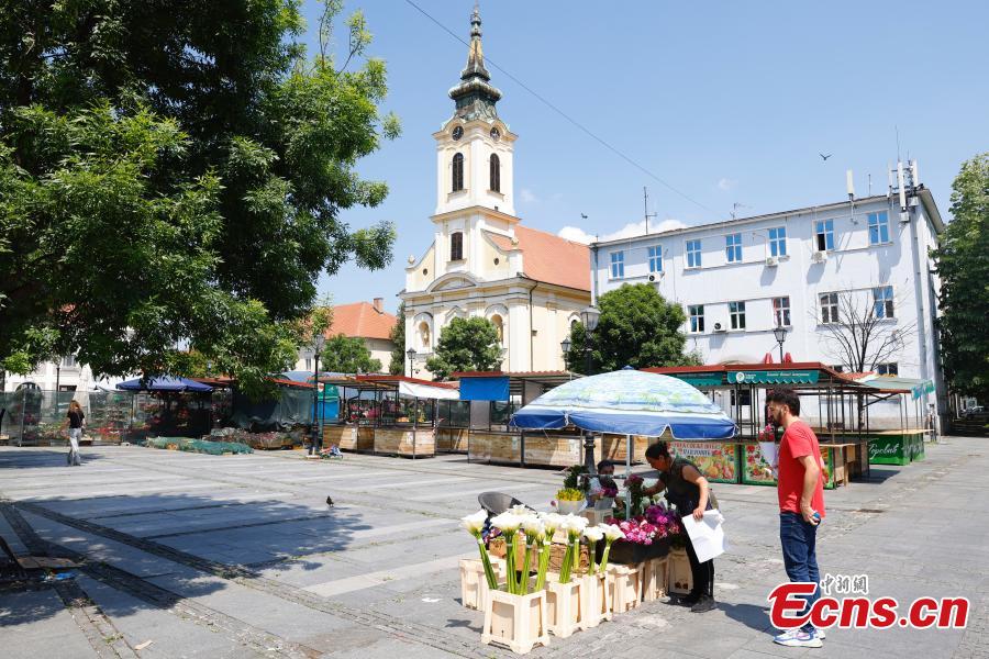
[(436, 215), (471, 206), (515, 214), (512, 143), (516, 136), (498, 118), (501, 92), (490, 82), (481, 48), (480, 10), (470, 16), (470, 48), (460, 82), (449, 90), (455, 102), (436, 139)]

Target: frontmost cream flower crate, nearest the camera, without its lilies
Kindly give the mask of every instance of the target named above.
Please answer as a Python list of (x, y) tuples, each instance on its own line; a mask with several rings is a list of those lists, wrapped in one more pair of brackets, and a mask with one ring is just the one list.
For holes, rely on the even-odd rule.
[(503, 646), (524, 655), (536, 645), (549, 645), (547, 619), (545, 590), (527, 595), (490, 591), (481, 643)]

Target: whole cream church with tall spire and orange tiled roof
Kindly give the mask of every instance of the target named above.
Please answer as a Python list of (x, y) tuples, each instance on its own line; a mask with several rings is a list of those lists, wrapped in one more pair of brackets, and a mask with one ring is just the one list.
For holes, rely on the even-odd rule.
[(518, 136), (494, 108), (501, 92), (489, 82), (480, 25), (475, 8), (467, 67), (449, 91), (454, 113), (433, 134), (432, 244), (422, 256), (409, 257), (399, 293), (405, 348), (414, 350), (408, 375), (420, 378), (430, 377), (425, 361), (456, 317), (491, 321), (504, 370), (563, 369), (559, 344), (590, 302), (587, 246), (525, 227), (514, 215)]

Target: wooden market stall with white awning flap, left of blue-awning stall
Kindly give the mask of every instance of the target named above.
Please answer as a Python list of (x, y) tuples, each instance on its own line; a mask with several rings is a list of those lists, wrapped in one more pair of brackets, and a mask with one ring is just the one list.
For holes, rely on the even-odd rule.
[(341, 396), (341, 414), (323, 423), (323, 445), (376, 455), (436, 455), (438, 403), (459, 398), (455, 384), (405, 376), (321, 377), (320, 382), (336, 387)]

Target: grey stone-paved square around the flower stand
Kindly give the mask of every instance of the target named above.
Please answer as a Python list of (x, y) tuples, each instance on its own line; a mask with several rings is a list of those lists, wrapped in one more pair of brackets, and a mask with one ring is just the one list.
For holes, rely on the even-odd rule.
[[(545, 509), (559, 474), (298, 451), (200, 456), (138, 447), (0, 448), (0, 535), (74, 579), (0, 589), (3, 657), (507, 657), (459, 605), (460, 516), (477, 494)], [(652, 602), (535, 657), (989, 658), (989, 449), (952, 437), (907, 467), (827, 492), (822, 572), (868, 574), (871, 596), (966, 596), (956, 630), (832, 629), (824, 648), (771, 643), (766, 595), (785, 580), (771, 488), (716, 485), (732, 548), (719, 608)], [(330, 509), (325, 499), (332, 495)], [(148, 643), (151, 641), (151, 643)]]

